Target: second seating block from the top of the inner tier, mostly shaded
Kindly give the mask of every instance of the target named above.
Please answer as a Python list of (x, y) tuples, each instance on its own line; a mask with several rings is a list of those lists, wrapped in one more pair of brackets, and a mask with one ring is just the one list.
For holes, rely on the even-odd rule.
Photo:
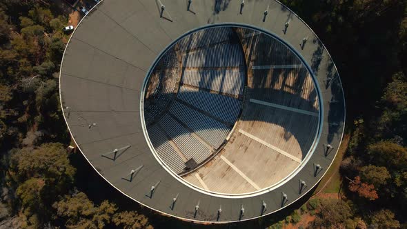
[(239, 67), (244, 59), (239, 44), (223, 43), (182, 54), (182, 63), (190, 68), (225, 68)]

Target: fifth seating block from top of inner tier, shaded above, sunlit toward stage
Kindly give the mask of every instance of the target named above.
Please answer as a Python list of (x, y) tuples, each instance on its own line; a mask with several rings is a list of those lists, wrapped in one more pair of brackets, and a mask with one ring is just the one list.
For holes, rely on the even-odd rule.
[[(221, 104), (218, 104), (218, 106), (221, 106)], [(215, 148), (221, 146), (230, 130), (230, 128), (219, 121), (203, 115), (201, 112), (189, 108), (178, 101), (175, 101), (171, 106), (170, 112)]]

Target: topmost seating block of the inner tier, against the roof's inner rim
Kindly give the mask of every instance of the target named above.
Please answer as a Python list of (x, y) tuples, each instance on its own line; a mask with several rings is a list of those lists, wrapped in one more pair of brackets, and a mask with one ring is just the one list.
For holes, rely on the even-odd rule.
[(179, 50), (185, 52), (203, 46), (210, 46), (213, 43), (230, 41), (233, 30), (226, 27), (208, 28), (199, 32), (194, 32), (179, 41)]

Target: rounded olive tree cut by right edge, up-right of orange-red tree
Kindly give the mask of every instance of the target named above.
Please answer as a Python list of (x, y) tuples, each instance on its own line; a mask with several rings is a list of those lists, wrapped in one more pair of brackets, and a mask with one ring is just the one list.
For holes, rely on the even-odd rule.
[(390, 171), (407, 167), (407, 148), (392, 141), (379, 141), (368, 146), (368, 154), (378, 166)]

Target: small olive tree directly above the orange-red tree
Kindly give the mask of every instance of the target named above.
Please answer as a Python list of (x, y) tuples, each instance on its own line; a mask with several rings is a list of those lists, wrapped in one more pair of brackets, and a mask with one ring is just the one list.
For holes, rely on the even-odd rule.
[(377, 166), (364, 166), (360, 170), (361, 181), (366, 183), (371, 183), (375, 187), (379, 188), (386, 184), (386, 181), (390, 179), (390, 173), (386, 167), (377, 167)]

